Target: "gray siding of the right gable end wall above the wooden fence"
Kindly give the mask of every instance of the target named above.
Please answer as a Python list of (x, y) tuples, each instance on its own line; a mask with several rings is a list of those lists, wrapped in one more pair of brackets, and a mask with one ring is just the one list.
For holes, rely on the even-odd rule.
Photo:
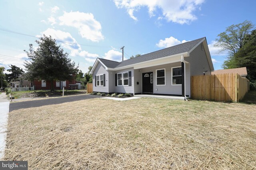
[(211, 69), (206, 57), (204, 48), (201, 49), (201, 45), (198, 45), (191, 53), (189, 57), (185, 57), (185, 61), (190, 63), (190, 75), (203, 75), (211, 74)]

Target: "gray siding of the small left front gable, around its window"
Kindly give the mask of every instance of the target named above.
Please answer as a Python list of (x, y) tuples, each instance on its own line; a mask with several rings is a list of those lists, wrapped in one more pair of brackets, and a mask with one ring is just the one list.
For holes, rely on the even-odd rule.
[[(95, 76), (100, 76), (102, 74), (105, 74), (105, 86), (95, 86)], [(97, 64), (96, 68), (93, 71), (92, 79), (94, 92), (108, 93), (108, 71), (100, 62)]]

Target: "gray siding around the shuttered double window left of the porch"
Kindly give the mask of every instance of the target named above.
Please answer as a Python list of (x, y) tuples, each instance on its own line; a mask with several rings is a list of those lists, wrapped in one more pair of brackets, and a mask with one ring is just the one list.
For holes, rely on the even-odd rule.
[(133, 68), (127, 68), (127, 69), (123, 69), (123, 70), (117, 70), (115, 71), (115, 74), (118, 73), (122, 73), (122, 72), (132, 72), (132, 86), (115, 86), (115, 75), (114, 75), (114, 87), (115, 87), (115, 92), (117, 93), (131, 93), (133, 94), (134, 90), (133, 90), (133, 86), (134, 86), (134, 70)]

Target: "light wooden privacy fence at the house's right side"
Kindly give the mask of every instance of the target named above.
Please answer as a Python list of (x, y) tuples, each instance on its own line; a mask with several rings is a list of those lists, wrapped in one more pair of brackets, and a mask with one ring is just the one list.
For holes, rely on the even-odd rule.
[(191, 76), (192, 99), (239, 102), (249, 88), (249, 80), (238, 74)]

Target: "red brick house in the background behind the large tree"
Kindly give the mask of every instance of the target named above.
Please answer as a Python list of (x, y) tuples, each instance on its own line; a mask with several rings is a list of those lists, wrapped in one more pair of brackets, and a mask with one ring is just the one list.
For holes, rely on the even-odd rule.
[[(74, 90), (74, 89), (79, 89), (80, 82), (76, 82), (76, 80), (66, 80), (66, 81), (54, 81), (53, 86), (54, 89), (69, 89), (69, 90)], [(33, 81), (33, 86), (35, 86), (35, 90), (50, 90), (51, 89), (51, 82), (50, 81), (45, 81), (45, 80), (34, 80)]]

